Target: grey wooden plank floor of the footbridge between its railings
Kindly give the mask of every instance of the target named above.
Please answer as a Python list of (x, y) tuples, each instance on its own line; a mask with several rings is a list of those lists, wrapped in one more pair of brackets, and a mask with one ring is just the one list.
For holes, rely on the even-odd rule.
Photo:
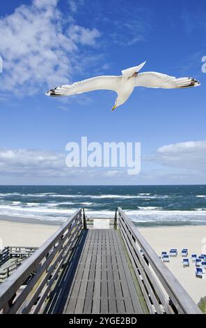
[(88, 230), (64, 313), (142, 313), (116, 230)]

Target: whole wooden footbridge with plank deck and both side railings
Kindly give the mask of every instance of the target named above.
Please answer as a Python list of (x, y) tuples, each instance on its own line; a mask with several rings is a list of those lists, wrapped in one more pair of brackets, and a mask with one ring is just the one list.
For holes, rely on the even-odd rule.
[(1, 283), (0, 313), (201, 313), (122, 209), (108, 228), (79, 209)]

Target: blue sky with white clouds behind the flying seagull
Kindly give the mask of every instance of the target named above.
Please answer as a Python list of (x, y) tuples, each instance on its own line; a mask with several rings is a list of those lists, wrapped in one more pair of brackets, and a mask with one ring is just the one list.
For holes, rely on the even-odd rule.
[[(206, 3), (3, 1), (0, 17), (0, 184), (206, 184)], [(192, 76), (201, 87), (136, 88), (111, 112), (113, 91), (49, 98), (95, 75)], [(141, 142), (141, 173), (65, 167), (65, 145)]]

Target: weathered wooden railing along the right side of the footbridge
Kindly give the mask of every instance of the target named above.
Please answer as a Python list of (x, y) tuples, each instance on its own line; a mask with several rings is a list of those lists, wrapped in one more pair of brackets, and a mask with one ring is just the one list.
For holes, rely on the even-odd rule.
[(186, 290), (119, 207), (116, 209), (114, 228), (120, 229), (150, 313), (201, 313)]

